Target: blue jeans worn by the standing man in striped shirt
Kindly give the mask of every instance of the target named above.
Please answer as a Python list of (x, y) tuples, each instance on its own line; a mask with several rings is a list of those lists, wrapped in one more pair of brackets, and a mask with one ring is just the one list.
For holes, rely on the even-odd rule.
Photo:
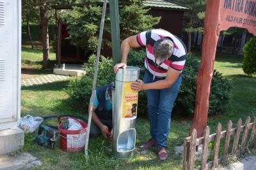
[[(156, 79), (153, 81), (152, 75), (145, 72), (143, 79), (144, 83), (150, 83), (159, 80), (161, 79), (156, 77)], [(179, 93), (181, 80), (182, 75), (180, 74), (170, 88), (146, 90), (150, 135), (152, 139), (157, 141), (157, 147), (162, 146), (166, 148), (167, 146), (165, 141), (170, 132), (173, 103)]]

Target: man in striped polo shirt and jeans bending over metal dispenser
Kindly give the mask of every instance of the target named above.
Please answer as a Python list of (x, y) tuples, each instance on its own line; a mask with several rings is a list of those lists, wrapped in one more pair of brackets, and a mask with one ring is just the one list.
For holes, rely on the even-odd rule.
[(166, 160), (166, 139), (170, 132), (173, 103), (178, 95), (187, 51), (184, 43), (163, 29), (152, 29), (126, 38), (121, 44), (121, 63), (127, 67), (127, 56), (133, 47), (146, 46), (145, 75), (143, 81), (132, 82), (134, 91), (146, 90), (151, 139), (140, 148), (157, 147), (157, 157)]

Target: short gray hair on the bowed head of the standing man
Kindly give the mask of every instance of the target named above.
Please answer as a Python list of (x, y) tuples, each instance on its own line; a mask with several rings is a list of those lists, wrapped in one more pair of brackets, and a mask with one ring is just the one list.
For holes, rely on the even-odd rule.
[(154, 44), (154, 57), (159, 61), (170, 58), (173, 52), (173, 42), (168, 38), (161, 38)]

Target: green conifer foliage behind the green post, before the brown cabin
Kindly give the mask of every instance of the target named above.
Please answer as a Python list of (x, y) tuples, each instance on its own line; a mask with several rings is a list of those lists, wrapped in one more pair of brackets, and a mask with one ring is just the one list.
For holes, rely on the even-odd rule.
[[(74, 7), (72, 14), (68, 18), (67, 29), (69, 30), (70, 43), (84, 50), (92, 50), (95, 52), (98, 46), (99, 29), (102, 17), (102, 6), (93, 4), (98, 0), (88, 1), (81, 0), (81, 3), (92, 3), (84, 5), (83, 8)], [(152, 29), (155, 24), (158, 24), (161, 17), (152, 17), (145, 15), (148, 10), (145, 9), (143, 1), (119, 1), (120, 7), (120, 39), (124, 40), (128, 36), (135, 35), (141, 31)], [(110, 16), (106, 12), (104, 21), (104, 33), (102, 47), (104, 44), (111, 47), (111, 26)]]

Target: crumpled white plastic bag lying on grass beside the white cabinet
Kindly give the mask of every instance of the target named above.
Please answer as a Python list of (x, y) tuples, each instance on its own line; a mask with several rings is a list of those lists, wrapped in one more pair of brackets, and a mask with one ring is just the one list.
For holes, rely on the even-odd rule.
[(24, 116), (17, 121), (18, 127), (20, 127), (26, 133), (35, 132), (36, 128), (44, 121), (44, 118), (33, 117), (31, 115)]

